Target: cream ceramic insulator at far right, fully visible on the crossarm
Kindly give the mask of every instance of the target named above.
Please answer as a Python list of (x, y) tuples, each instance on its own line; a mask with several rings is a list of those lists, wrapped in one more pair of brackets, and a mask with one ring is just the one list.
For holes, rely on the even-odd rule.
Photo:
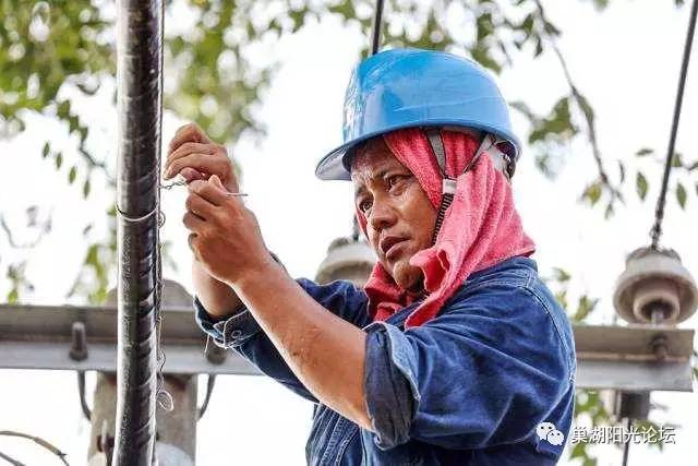
[(627, 259), (613, 303), (630, 323), (676, 324), (696, 312), (698, 289), (676, 252), (640, 248)]

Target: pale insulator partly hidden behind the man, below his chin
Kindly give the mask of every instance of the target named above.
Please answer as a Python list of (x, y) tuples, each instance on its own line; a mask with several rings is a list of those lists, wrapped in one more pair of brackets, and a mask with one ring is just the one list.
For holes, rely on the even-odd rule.
[(361, 288), (371, 275), (373, 264), (375, 254), (369, 244), (350, 238), (337, 238), (327, 248), (327, 256), (320, 264), (315, 280), (322, 285), (341, 279)]

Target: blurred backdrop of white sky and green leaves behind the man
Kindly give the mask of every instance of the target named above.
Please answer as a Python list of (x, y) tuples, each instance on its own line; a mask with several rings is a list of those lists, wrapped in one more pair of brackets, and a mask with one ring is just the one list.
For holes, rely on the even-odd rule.
[[(164, 145), (190, 121), (225, 143), (268, 248), (293, 276), (313, 277), (330, 241), (351, 234), (351, 187), (316, 180), (314, 167), (340, 142), (344, 91), (368, 52), (373, 2), (165, 3)], [(626, 255), (649, 243), (688, 13), (679, 0), (386, 2), (384, 48), (445, 49), (497, 76), (525, 142), (517, 206), (541, 275), (573, 321), (616, 323), (615, 279)], [(108, 0), (0, 1), (2, 302), (101, 304), (116, 286), (115, 15)], [(662, 237), (694, 273), (695, 68)], [(193, 294), (184, 191), (161, 194), (164, 275)], [(88, 394), (94, 384), (88, 373)], [(41, 437), (70, 464), (86, 464), (89, 421), (77, 399), (72, 372), (0, 370), (0, 431)], [(651, 401), (649, 422), (674, 426), (675, 442), (631, 445), (629, 464), (695, 464), (696, 395)], [(274, 381), (220, 377), (197, 425), (197, 464), (304, 464), (311, 417), (310, 403)], [(598, 392), (580, 390), (575, 422), (617, 420)], [(0, 452), (60, 464), (16, 438), (0, 435)], [(567, 442), (561, 464), (618, 465), (622, 454), (617, 444)]]

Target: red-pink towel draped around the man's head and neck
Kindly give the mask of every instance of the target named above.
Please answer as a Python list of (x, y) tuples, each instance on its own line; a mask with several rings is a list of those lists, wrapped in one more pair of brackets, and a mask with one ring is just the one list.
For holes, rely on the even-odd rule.
[[(530, 255), (535, 250), (533, 241), (524, 232), (512, 187), (490, 157), (480, 157), (471, 170), (462, 174), (474, 156), (479, 141), (461, 132), (441, 133), (447, 174), (457, 177), (456, 194), (435, 244), (410, 260), (410, 264), (424, 273), (428, 295), (407, 318), (406, 328), (434, 318), (471, 273), (516, 255)], [(414, 174), (432, 205), (438, 210), (442, 176), (424, 133), (419, 129), (406, 129), (383, 138), (395, 157)], [(357, 211), (357, 218), (365, 234), (365, 217)], [(369, 296), (369, 313), (374, 321), (385, 321), (419, 299), (399, 288), (381, 263), (374, 266), (364, 289)]]

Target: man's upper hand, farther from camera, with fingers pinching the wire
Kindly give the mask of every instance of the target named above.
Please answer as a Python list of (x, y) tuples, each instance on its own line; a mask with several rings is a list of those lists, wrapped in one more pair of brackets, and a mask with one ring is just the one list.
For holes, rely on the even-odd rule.
[(188, 184), (217, 175), (228, 191), (239, 191), (234, 168), (226, 147), (210, 141), (195, 123), (185, 124), (174, 133), (164, 171), (165, 179), (179, 174)]

